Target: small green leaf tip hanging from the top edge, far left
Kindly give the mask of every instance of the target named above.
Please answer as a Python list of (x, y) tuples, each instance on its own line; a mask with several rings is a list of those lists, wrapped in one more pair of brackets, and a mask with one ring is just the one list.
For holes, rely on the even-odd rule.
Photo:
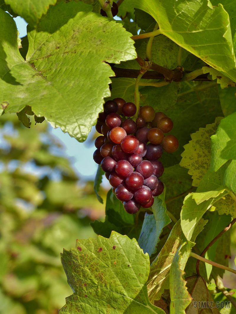
[(38, 20), (43, 14), (46, 14), (49, 5), (53, 5), (57, 0), (5, 0), (6, 4), (9, 4), (12, 10), (23, 17), (25, 21), (35, 26)]

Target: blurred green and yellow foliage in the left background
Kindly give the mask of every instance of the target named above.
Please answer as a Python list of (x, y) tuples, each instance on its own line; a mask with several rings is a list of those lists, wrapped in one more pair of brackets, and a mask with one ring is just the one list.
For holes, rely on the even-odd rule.
[(0, 117), (1, 314), (58, 313), (72, 294), (60, 252), (96, 238), (89, 223), (104, 218), (93, 182), (80, 183), (48, 128)]

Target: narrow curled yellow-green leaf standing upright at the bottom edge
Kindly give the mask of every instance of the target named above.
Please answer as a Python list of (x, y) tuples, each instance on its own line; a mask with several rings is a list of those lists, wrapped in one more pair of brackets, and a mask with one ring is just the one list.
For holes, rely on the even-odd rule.
[(188, 293), (186, 281), (182, 278), (184, 271), (180, 268), (181, 247), (178, 248), (173, 258), (170, 269), (170, 314), (185, 314), (186, 307), (191, 303), (192, 297)]

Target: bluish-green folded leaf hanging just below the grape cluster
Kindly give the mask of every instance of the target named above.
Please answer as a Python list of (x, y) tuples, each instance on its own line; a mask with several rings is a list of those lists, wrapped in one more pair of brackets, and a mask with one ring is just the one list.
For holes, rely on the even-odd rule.
[(149, 256), (156, 252), (156, 246), (160, 242), (159, 237), (162, 230), (171, 222), (171, 219), (166, 214), (165, 190), (161, 195), (154, 198), (153, 214), (145, 213), (142, 230), (138, 238), (138, 245)]

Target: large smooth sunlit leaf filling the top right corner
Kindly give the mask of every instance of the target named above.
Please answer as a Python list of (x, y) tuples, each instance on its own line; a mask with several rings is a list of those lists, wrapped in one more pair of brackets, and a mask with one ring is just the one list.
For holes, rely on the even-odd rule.
[(149, 13), (158, 22), (162, 34), (236, 80), (229, 16), (222, 4), (213, 8), (210, 1), (204, 0), (138, 3), (128, 0), (128, 3)]

